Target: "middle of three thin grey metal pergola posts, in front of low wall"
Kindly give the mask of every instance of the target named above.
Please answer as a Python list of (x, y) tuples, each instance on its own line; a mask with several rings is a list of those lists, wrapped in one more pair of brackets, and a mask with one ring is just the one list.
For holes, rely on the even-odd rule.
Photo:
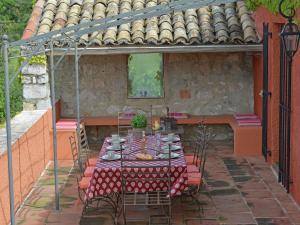
[(54, 160), (54, 183), (55, 183), (55, 209), (59, 210), (59, 184), (58, 184), (58, 163), (57, 163), (57, 140), (56, 140), (56, 108), (55, 108), (55, 74), (54, 74), (54, 53), (53, 41), (50, 42), (50, 95), (52, 106), (52, 128), (53, 128), (53, 160)]

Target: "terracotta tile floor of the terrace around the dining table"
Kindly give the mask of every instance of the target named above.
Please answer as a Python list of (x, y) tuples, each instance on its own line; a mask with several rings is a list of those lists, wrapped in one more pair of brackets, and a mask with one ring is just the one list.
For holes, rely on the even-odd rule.
[[(76, 172), (72, 162), (59, 163), (60, 211), (54, 210), (52, 165), (17, 213), (22, 225), (111, 225), (110, 209), (90, 210), (82, 216), (77, 195)], [(270, 166), (262, 158), (236, 158), (230, 143), (214, 143), (206, 166), (207, 185), (199, 195), (201, 214), (189, 199), (176, 199), (174, 225), (300, 225), (300, 210), (277, 183)], [(153, 209), (151, 209), (153, 210)], [(128, 214), (144, 218), (149, 209), (131, 210)]]

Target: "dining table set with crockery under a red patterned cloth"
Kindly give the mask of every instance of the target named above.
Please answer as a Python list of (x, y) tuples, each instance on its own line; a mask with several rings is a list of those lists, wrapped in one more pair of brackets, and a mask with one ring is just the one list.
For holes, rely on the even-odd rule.
[[(163, 137), (163, 136), (162, 136)], [(153, 154), (153, 158), (156, 158), (155, 151), (151, 151), (157, 139), (154, 135), (147, 136), (147, 149), (148, 154)], [(165, 137), (166, 138), (166, 137)], [(171, 159), (171, 168), (170, 168), (170, 180), (171, 180), (171, 197), (181, 195), (187, 189), (187, 165), (183, 153), (183, 145), (180, 142), (180, 138), (176, 136), (176, 142), (172, 143), (173, 145), (180, 146), (176, 148), (176, 158)], [(163, 140), (163, 138), (162, 138)], [(128, 146), (128, 138), (123, 139), (124, 145)], [(130, 145), (132, 149), (137, 149), (141, 145), (141, 139), (133, 140)], [(164, 145), (164, 141), (161, 141), (161, 145)], [(109, 196), (111, 194), (121, 194), (122, 191), (122, 177), (121, 177), (121, 160), (105, 160), (104, 156), (107, 156), (108, 148), (111, 146), (111, 137), (105, 138), (103, 145), (100, 149), (98, 160), (90, 180), (89, 187), (86, 190), (86, 200), (92, 200), (93, 198), (101, 196)], [(118, 151), (115, 151), (116, 154), (119, 154)], [(153, 169), (159, 167), (160, 162), (157, 160), (149, 161), (140, 161), (144, 165), (147, 164), (148, 168), (153, 167)], [(137, 163), (139, 161), (137, 160)], [(137, 167), (132, 168), (132, 172), (143, 174), (143, 168)], [(165, 190), (165, 183), (160, 183), (157, 181), (151, 183), (139, 183), (131, 182), (127, 187), (129, 190), (134, 192), (151, 192)]]

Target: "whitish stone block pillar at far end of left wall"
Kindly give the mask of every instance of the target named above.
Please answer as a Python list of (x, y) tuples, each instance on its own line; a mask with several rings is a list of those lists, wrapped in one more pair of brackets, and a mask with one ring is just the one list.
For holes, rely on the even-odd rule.
[(24, 110), (48, 109), (50, 106), (50, 88), (47, 66), (42, 64), (26, 65), (23, 75)]

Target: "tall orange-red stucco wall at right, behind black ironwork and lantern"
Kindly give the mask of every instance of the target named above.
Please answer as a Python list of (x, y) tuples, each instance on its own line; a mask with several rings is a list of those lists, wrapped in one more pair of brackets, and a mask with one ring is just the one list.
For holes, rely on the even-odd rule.
[[(269, 41), (269, 99), (268, 120), (268, 148), (272, 152), (270, 163), (278, 162), (279, 158), (279, 85), (280, 85), (280, 28), (286, 20), (271, 14), (261, 7), (254, 14), (258, 32), (262, 36), (263, 22), (269, 23), (270, 32), (273, 33)], [(297, 11), (300, 18), (300, 10)], [(261, 99), (257, 91), (262, 88), (262, 57), (255, 56), (254, 60), (254, 96), (255, 112), (260, 115), (262, 111)], [(300, 50), (294, 57), (292, 74), (292, 112), (291, 112), (291, 194), (300, 203)]]

